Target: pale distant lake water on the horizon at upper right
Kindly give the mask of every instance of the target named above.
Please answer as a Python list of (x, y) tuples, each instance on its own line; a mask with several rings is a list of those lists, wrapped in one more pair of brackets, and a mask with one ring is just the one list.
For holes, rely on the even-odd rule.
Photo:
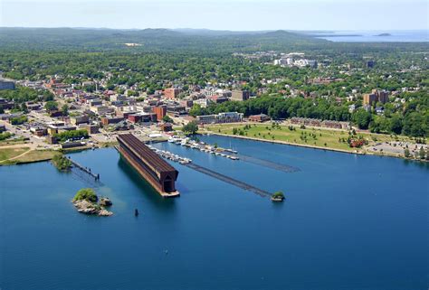
[[(389, 33), (388, 36), (377, 36)], [(319, 33), (318, 37), (331, 42), (429, 42), (429, 30), (413, 31), (342, 31)], [(314, 34), (317, 36), (318, 34)]]

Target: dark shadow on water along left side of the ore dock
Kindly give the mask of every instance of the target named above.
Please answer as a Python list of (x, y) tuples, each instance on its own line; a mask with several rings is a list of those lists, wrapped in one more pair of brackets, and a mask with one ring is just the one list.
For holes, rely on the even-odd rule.
[(138, 187), (140, 192), (144, 192), (145, 197), (148, 201), (151, 201), (157, 208), (160, 209), (171, 209), (175, 206), (175, 199), (166, 199), (159, 195), (152, 186), (140, 176), (140, 174), (135, 170), (122, 156), (120, 156), (118, 161), (119, 169), (127, 175), (129, 180)]

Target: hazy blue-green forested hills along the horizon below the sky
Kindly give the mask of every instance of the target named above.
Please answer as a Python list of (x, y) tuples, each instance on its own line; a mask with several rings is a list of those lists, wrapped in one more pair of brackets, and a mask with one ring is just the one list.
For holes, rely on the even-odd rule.
[[(230, 32), (205, 29), (0, 28), (0, 48), (111, 51), (285, 50), (327, 41), (286, 31)], [(125, 43), (137, 43), (127, 47)]]

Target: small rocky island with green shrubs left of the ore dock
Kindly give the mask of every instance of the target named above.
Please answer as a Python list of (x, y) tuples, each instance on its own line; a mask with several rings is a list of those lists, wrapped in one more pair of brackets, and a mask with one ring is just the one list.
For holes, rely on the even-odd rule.
[(76, 209), (85, 214), (96, 214), (99, 216), (111, 216), (113, 212), (106, 210), (105, 207), (112, 205), (107, 197), (99, 197), (91, 188), (82, 188), (76, 193), (71, 201)]

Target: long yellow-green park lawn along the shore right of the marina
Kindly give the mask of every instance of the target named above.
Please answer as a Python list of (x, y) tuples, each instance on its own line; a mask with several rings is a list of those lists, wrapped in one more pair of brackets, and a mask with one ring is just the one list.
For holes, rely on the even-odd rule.
[[(208, 126), (207, 129), (220, 134), (233, 135), (234, 127), (243, 129), (245, 125), (238, 124), (218, 124)], [(294, 130), (288, 126), (272, 127), (271, 123), (252, 124), (250, 129), (244, 130), (244, 136), (250, 138), (260, 138), (270, 141), (283, 141), (297, 145), (319, 146), (332, 149), (355, 151), (357, 148), (350, 148), (346, 142), (339, 142), (339, 138), (347, 140), (348, 131), (335, 130), (326, 128), (307, 127), (301, 129), (300, 126), (293, 126)], [(303, 136), (306, 136), (304, 138)], [(394, 141), (395, 138), (382, 134), (370, 134), (367, 132), (357, 132), (358, 135), (364, 136), (369, 143)], [(407, 137), (398, 136), (399, 140), (409, 140)]]

